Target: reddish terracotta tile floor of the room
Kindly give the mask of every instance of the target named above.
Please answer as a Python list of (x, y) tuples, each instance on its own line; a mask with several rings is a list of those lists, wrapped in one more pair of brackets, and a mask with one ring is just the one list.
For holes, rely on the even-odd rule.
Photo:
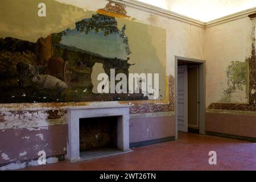
[[(208, 163), (217, 152), (217, 165)], [(26, 170), (256, 170), (256, 143), (179, 133), (179, 140), (135, 148), (128, 154), (87, 162), (66, 161)]]

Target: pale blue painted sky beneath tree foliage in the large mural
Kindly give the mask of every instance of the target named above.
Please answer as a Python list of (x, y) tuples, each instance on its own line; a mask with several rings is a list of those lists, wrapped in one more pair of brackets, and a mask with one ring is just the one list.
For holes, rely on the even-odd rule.
[(119, 38), (119, 34), (104, 36), (104, 32), (102, 31), (97, 34), (94, 31), (90, 31), (86, 35), (85, 32), (68, 30), (67, 35), (63, 36), (60, 43), (94, 52), (104, 57), (127, 59), (125, 44), (122, 38)]

